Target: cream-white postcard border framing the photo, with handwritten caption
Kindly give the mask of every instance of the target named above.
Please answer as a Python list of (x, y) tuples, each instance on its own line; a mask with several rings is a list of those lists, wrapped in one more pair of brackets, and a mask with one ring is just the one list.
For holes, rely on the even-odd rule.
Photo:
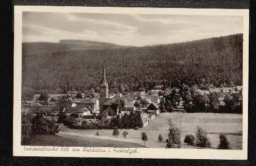
[[(172, 15), (234, 15), (243, 16), (243, 143), (242, 150), (192, 150), (164, 148), (136, 148), (137, 153), (117, 153), (114, 148), (101, 148), (107, 152), (61, 152), (24, 151), (21, 146), (21, 69), (22, 69), (22, 11), (69, 12), (69, 13), (118, 13), (118, 14), (172, 14)], [(247, 159), (248, 126), (248, 63), (249, 61), (249, 10), (245, 9), (159, 9), (127, 7), (57, 7), (57, 6), (14, 6), (14, 110), (13, 110), (13, 155), (49, 157), (121, 157), (156, 159)], [(61, 147), (55, 147), (61, 148)], [(72, 149), (72, 147), (69, 147)], [(76, 147), (78, 148), (78, 147)], [(82, 147), (80, 147), (82, 149)], [(135, 148), (130, 148), (135, 150)]]

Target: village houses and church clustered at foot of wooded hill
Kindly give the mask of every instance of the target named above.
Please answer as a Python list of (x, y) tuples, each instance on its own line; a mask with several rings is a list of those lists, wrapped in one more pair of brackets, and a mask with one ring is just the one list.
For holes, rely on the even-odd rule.
[[(152, 89), (149, 92), (133, 92), (127, 95), (122, 93), (110, 94), (108, 82), (106, 81), (105, 68), (100, 82), (100, 94), (93, 93), (92, 96), (85, 96), (82, 92), (69, 92), (67, 94), (46, 94), (46, 99), (43, 94), (34, 94), (31, 101), (22, 101), (22, 111), (31, 111), (33, 113), (43, 112), (47, 115), (57, 116), (60, 112), (67, 116), (76, 114), (78, 117), (100, 116), (105, 115), (105, 118), (113, 118), (119, 113), (129, 114), (130, 111), (140, 110), (143, 113), (151, 114), (155, 117), (160, 114), (160, 101), (163, 99), (163, 90)], [(162, 92), (162, 93), (161, 93)], [(239, 101), (242, 101), (242, 86), (234, 86), (229, 88), (209, 88), (209, 90), (197, 89), (197, 92), (209, 96), (210, 94), (217, 96), (217, 106), (225, 105), (225, 96), (230, 94), (239, 94)], [(60, 108), (60, 100), (65, 101), (65, 106)], [(124, 109), (119, 111), (117, 100), (124, 102)], [(186, 111), (181, 98), (176, 107), (166, 111)], [(149, 119), (148, 119), (149, 121)], [(144, 122), (147, 123), (147, 122)]]

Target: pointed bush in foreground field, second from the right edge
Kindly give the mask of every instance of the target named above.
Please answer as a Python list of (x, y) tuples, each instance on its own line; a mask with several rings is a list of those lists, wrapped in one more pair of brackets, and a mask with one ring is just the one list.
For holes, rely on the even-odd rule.
[(207, 137), (207, 131), (202, 127), (197, 127), (196, 130), (196, 146), (201, 148), (210, 147), (210, 140)]

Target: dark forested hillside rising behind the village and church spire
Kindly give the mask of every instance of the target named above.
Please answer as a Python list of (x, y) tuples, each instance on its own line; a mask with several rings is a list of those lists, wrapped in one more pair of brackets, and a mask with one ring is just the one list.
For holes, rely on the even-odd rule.
[(35, 90), (88, 90), (98, 86), (105, 65), (110, 89), (147, 90), (181, 83), (201, 84), (201, 88), (242, 85), (242, 43), (242, 34), (237, 34), (147, 47), (60, 47), (53, 52), (36, 52), (38, 48), (26, 44), (22, 83)]

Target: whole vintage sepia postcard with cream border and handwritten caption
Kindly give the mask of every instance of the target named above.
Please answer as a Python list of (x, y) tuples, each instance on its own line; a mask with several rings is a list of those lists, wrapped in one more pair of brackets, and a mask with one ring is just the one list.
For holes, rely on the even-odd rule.
[(247, 159), (249, 10), (15, 6), (14, 156)]

